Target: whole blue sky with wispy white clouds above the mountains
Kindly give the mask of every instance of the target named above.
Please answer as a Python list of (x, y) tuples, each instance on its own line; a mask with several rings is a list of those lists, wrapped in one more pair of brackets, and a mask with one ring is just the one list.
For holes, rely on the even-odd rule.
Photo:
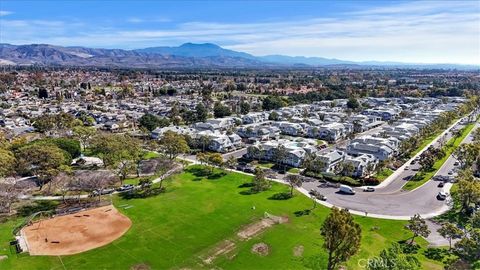
[(480, 1), (0, 1), (0, 42), (480, 64)]

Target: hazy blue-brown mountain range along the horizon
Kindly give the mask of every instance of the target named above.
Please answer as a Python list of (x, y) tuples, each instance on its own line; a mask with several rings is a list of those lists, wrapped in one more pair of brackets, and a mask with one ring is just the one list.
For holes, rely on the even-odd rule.
[(62, 47), (49, 44), (0, 44), (0, 65), (92, 66), (117, 68), (288, 68), (288, 67), (396, 67), (478, 69), (455, 64), (354, 62), (322, 57), (254, 56), (224, 49), (212, 43), (185, 43), (178, 47), (136, 50)]

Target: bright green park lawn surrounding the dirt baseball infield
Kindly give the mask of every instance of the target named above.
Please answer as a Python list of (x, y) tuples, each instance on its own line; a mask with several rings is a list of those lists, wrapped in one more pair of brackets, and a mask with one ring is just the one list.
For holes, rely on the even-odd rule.
[[(132, 220), (132, 228), (113, 243), (82, 254), (17, 256), (10, 253), (8, 241), (11, 229), (21, 219), (0, 224), (0, 255), (9, 256), (0, 261), (0, 269), (130, 269), (140, 263), (152, 269), (301, 269), (314, 265), (325, 268), (326, 252), (321, 248), (319, 228), (329, 212), (327, 208), (319, 205), (310, 215), (296, 217), (295, 211), (312, 208), (309, 198), (296, 193), (290, 200), (268, 199), (287, 191), (287, 186), (272, 183), (269, 191), (242, 195), (245, 188), (239, 185), (251, 181), (250, 176), (216, 171), (208, 179), (199, 175), (198, 169), (199, 166), (191, 166), (189, 172), (170, 177), (165, 183), (167, 192), (156, 197), (125, 200), (114, 196), (114, 204)], [(133, 207), (120, 207), (125, 204)], [(236, 237), (236, 232), (261, 219), (265, 212), (288, 216), (289, 222), (274, 225), (248, 241)], [(411, 236), (404, 229), (405, 221), (366, 217), (355, 220), (362, 226), (363, 238), (360, 252), (346, 263), (349, 269), (359, 269), (360, 259), (378, 255), (388, 244)], [(199, 256), (210, 253), (225, 239), (236, 243), (236, 256), (220, 256), (208, 266), (199, 264)], [(270, 246), (268, 256), (251, 253), (252, 245), (259, 242)], [(416, 242), (426, 248), (423, 239)], [(303, 257), (295, 257), (293, 249), (300, 245), (304, 248)], [(421, 254), (417, 256), (425, 269), (440, 267)]]

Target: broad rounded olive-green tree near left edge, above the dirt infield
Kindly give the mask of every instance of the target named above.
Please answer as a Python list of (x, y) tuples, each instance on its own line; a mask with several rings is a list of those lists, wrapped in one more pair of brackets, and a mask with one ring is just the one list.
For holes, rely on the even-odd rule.
[(62, 165), (67, 165), (65, 152), (50, 144), (31, 144), (16, 153), (19, 170), (37, 176), (40, 188), (60, 172)]

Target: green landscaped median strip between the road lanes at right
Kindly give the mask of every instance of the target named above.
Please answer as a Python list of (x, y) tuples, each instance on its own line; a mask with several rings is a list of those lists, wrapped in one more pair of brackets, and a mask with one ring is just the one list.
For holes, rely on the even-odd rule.
[(470, 134), (472, 129), (475, 127), (475, 123), (470, 123), (466, 125), (462, 129), (462, 134), (458, 138), (451, 138), (447, 144), (443, 147), (445, 151), (445, 156), (437, 161), (435, 161), (435, 164), (433, 165), (432, 169), (427, 172), (418, 172), (415, 174), (414, 177), (410, 181), (408, 181), (404, 186), (404, 190), (414, 190), (417, 187), (423, 185), (426, 183), (428, 180), (430, 180), (436, 173), (437, 171), (443, 166), (443, 164), (447, 161), (447, 159), (450, 157), (450, 155), (457, 149), (457, 147), (462, 143), (462, 141)]

